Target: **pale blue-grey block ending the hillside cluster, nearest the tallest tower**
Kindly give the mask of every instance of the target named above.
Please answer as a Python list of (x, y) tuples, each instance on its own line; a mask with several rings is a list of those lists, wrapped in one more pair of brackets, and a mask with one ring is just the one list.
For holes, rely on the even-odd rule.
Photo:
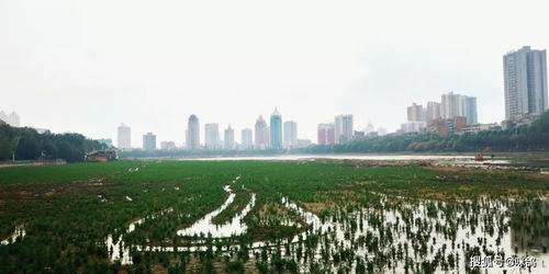
[(453, 92), (442, 94), (440, 110), (445, 119), (466, 117), (468, 124), (478, 123), (477, 98), (474, 96), (460, 95)]

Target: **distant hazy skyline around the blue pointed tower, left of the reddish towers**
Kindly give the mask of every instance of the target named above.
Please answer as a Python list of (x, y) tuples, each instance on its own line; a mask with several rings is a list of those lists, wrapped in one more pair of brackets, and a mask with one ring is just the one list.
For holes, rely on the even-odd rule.
[[(206, 123), (204, 125), (204, 142), (201, 142), (199, 117), (194, 114), (189, 116), (186, 130), (186, 146), (190, 150), (197, 149), (282, 149), (298, 148), (311, 145), (311, 140), (298, 139), (298, 123), (285, 121), (282, 123), (282, 115), (274, 109), (267, 123), (262, 116), (256, 121), (255, 130), (243, 128), (240, 130), (240, 141), (235, 139), (235, 129), (228, 125), (220, 133), (220, 125), (216, 123)], [(223, 138), (222, 138), (223, 136)], [(124, 124), (117, 128), (117, 147), (121, 149), (131, 149), (132, 146), (131, 128)], [(177, 149), (175, 141), (161, 141), (160, 149)], [(158, 149), (156, 135), (147, 133), (143, 135), (143, 149)]]

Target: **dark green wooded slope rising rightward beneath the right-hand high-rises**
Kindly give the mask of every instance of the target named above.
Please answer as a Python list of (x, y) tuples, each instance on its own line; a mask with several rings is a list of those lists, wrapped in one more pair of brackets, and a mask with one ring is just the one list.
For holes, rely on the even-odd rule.
[(438, 136), (436, 133), (390, 135), (356, 139), (340, 145), (318, 145), (300, 149), (305, 153), (338, 152), (470, 152), (529, 151), (549, 149), (549, 111), (531, 125), (505, 130), (484, 130), (461, 135)]

